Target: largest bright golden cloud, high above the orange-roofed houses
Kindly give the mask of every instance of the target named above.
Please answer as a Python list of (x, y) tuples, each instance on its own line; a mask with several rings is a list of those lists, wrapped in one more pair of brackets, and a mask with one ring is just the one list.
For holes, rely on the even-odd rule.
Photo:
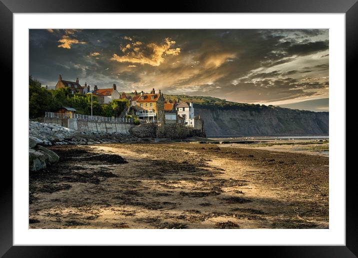
[[(180, 48), (170, 48), (173, 44), (175, 44), (175, 41), (167, 37), (163, 44), (148, 43), (143, 48), (134, 47), (132, 51), (128, 51), (122, 56), (114, 53), (110, 60), (159, 66), (164, 61), (165, 55), (178, 55), (180, 53)], [(127, 44), (120, 49), (125, 52), (126, 49), (130, 48), (131, 46)]]

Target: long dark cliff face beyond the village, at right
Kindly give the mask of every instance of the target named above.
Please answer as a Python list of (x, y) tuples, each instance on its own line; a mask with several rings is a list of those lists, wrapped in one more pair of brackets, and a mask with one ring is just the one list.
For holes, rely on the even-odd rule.
[(207, 136), (328, 134), (328, 112), (194, 106)]

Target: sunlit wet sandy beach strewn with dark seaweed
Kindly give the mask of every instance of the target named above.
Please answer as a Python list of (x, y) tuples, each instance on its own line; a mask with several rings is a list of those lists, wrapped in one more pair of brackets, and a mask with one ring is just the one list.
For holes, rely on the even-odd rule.
[(60, 161), (30, 172), (30, 228), (328, 228), (327, 156), (198, 143), (50, 149)]

